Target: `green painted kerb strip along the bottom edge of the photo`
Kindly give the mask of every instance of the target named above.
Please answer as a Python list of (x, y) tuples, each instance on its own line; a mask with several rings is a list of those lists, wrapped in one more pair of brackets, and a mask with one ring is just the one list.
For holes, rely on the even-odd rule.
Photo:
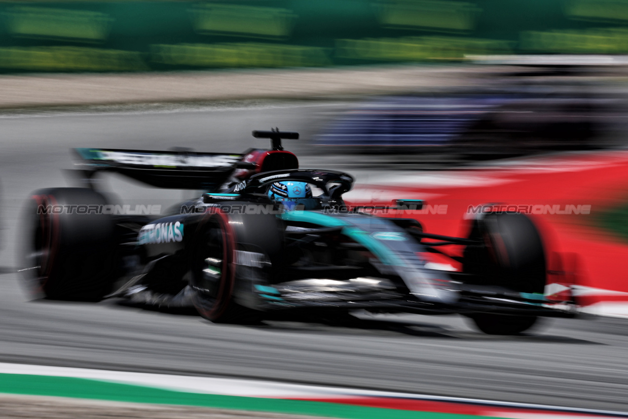
[(478, 416), (393, 410), (320, 401), (220, 396), (161, 390), (84, 378), (0, 374), (0, 393), (267, 411), (343, 419), (472, 419)]

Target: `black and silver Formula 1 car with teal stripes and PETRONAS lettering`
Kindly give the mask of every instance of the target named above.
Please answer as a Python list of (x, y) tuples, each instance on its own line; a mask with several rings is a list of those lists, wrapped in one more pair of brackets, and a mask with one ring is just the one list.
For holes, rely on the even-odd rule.
[[(35, 191), (23, 272), (36, 297), (195, 307), (213, 322), (265, 316), (342, 317), (350, 310), (463, 314), (489, 334), (517, 334), (541, 316), (573, 316), (546, 293), (541, 235), (522, 214), (482, 213), (467, 237), (426, 233), (413, 218), (347, 206), (349, 174), (298, 168), (281, 139), (244, 154), (75, 149), (82, 188)], [(113, 171), (159, 188), (204, 191), (161, 215), (116, 214), (94, 177)], [(421, 201), (398, 200), (403, 210)], [(431, 255), (463, 246), (462, 272)], [(293, 317), (292, 317), (293, 318)]]

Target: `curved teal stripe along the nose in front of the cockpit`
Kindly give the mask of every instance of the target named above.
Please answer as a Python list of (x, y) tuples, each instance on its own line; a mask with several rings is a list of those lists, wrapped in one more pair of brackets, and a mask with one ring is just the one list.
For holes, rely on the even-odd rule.
[(401, 260), (392, 250), (380, 243), (376, 238), (372, 238), (368, 231), (360, 230), (330, 215), (317, 213), (315, 211), (285, 211), (279, 217), (284, 221), (296, 221), (302, 223), (312, 223), (324, 227), (344, 227), (342, 233), (364, 245), (367, 249), (379, 258), (384, 265), (405, 266), (406, 263)]

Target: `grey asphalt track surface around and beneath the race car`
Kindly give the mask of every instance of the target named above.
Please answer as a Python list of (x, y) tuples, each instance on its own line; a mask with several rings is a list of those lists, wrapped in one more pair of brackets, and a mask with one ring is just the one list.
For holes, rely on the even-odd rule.
[[(266, 146), (250, 137), (252, 129), (278, 126), (300, 130), (307, 139), (343, 106), (242, 102), (195, 109), (0, 115), (0, 265), (17, 265), (24, 198), (37, 188), (67, 184), (60, 169), (71, 167), (69, 147), (187, 146), (240, 152)], [(305, 147), (306, 142), (296, 142), (290, 149)], [(314, 157), (304, 160), (309, 166)], [(122, 186), (119, 179), (108, 182), (123, 199), (164, 195)], [(168, 197), (178, 199), (182, 193)], [(457, 316), (390, 316), (387, 321), (364, 316), (354, 327), (300, 322), (224, 326), (112, 300), (29, 301), (21, 285), (16, 273), (0, 275), (0, 362), (628, 411), (628, 324), (622, 321), (552, 320), (519, 337), (485, 336)]]

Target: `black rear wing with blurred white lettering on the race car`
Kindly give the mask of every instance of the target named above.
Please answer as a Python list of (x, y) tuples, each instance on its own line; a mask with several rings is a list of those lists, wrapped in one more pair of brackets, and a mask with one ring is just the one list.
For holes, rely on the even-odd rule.
[(114, 171), (158, 188), (215, 190), (236, 169), (243, 154), (194, 151), (73, 149), (87, 179)]

